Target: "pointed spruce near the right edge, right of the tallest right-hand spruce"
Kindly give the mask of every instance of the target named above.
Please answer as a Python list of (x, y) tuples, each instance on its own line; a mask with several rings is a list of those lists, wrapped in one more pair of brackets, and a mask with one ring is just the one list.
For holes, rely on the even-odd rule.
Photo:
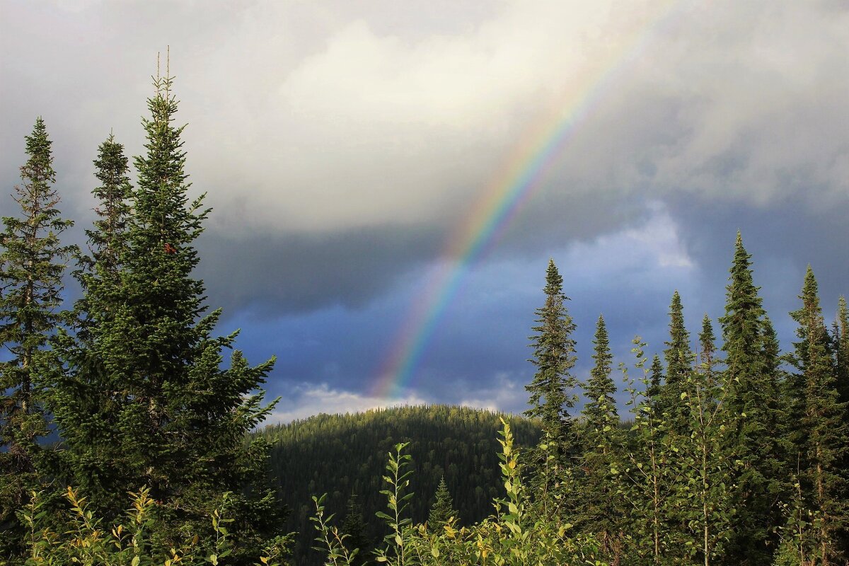
[(801, 308), (790, 315), (799, 323), (796, 335), (800, 339), (794, 344), (791, 360), (804, 383), (801, 425), (807, 436), (800, 445), (801, 489), (808, 507), (818, 517), (808, 555), (829, 566), (841, 563), (839, 538), (849, 526), (849, 485), (842, 468), (849, 447), (849, 427), (811, 266), (807, 267), (799, 298)]

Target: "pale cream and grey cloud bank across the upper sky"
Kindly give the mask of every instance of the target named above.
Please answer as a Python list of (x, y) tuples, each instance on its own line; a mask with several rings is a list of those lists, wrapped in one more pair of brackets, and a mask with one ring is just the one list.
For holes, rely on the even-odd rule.
[[(843, 202), (849, 10), (553, 1), (427, 17), (424, 3), (345, 4), (6, 8), (3, 99), (26, 118), (4, 136), (48, 113), (79, 199), (110, 127), (141, 149), (154, 53), (170, 43), (189, 171), (220, 210), (250, 218), (228, 230), (444, 227), (527, 132), (615, 68), (549, 183), (559, 204), (599, 190), (768, 206), (806, 189), (807, 205)], [(23, 52), (35, 29), (43, 47)], [(121, 57), (100, 48), (119, 40)]]

